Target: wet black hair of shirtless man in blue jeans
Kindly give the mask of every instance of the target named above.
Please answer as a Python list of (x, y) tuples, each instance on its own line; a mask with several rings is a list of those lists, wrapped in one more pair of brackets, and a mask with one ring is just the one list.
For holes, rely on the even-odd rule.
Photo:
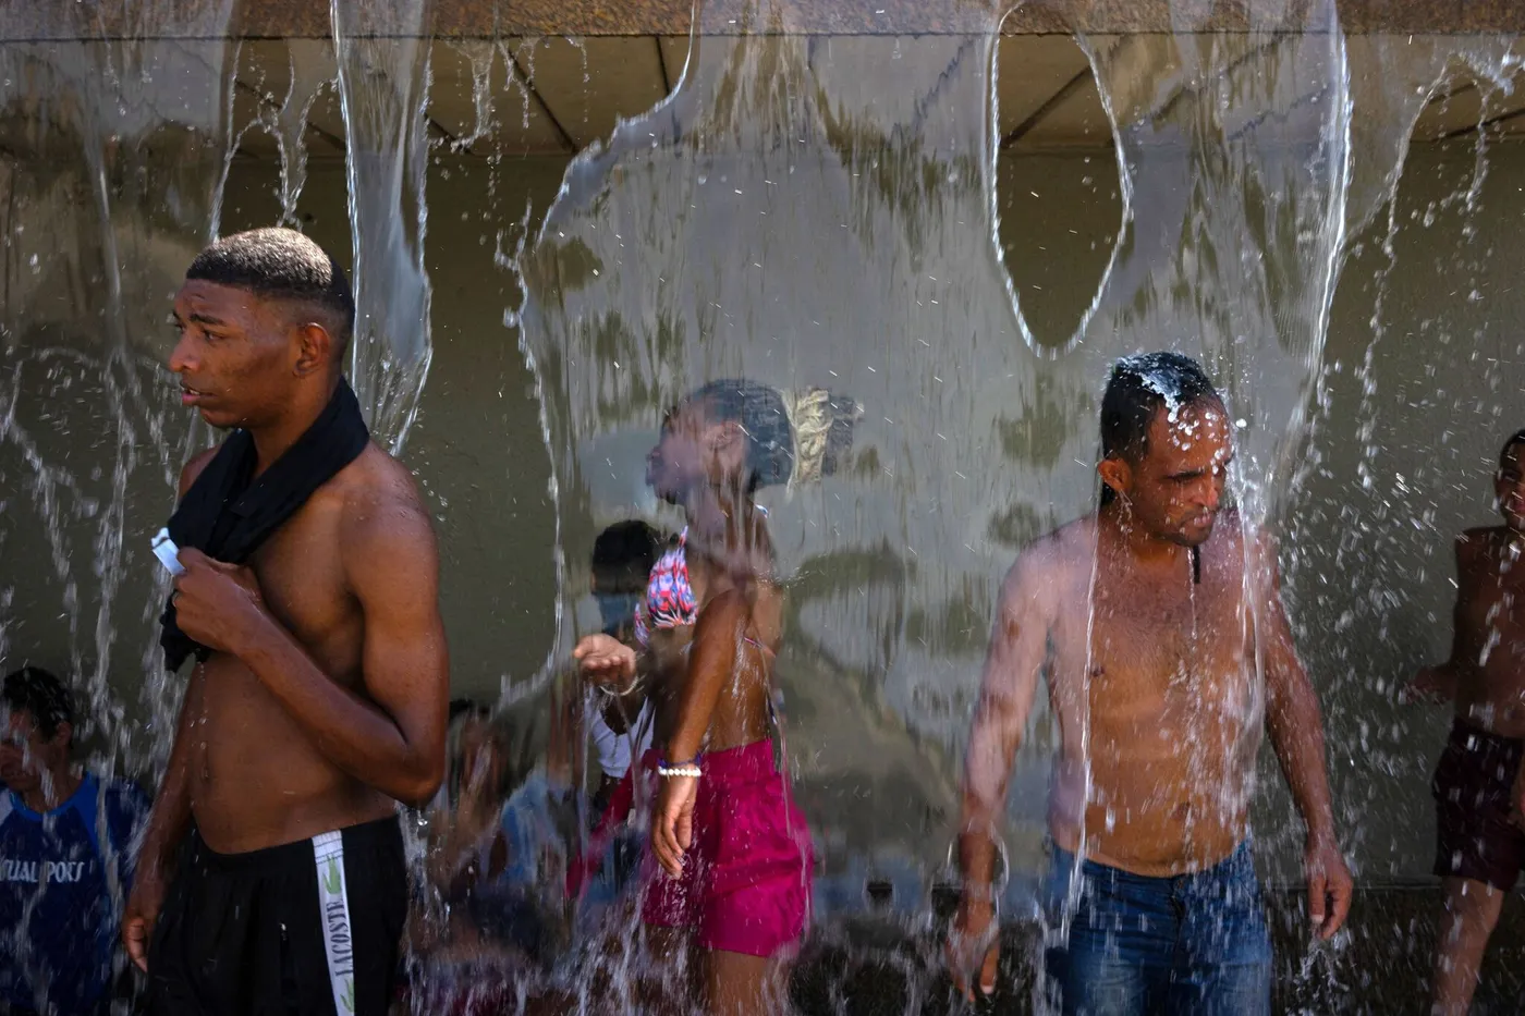
[[(1130, 462), (1148, 453), (1148, 426), (1162, 407), (1179, 409), (1206, 401), (1223, 401), (1212, 380), (1196, 360), (1179, 352), (1142, 352), (1122, 357), (1112, 366), (1107, 391), (1101, 397), (1101, 458), (1121, 456)], [(1116, 497), (1101, 485), (1101, 503)]]

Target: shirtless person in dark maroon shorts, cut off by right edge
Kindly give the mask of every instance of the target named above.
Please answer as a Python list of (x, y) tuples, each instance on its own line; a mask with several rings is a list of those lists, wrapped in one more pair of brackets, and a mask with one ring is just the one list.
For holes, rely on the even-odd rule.
[(1450, 700), (1455, 720), (1435, 767), (1435, 874), (1444, 911), (1430, 1013), (1462, 1016), (1488, 937), (1525, 865), (1525, 430), (1499, 453), (1493, 496), (1502, 526), (1456, 540), (1450, 659), (1423, 668), (1406, 699)]

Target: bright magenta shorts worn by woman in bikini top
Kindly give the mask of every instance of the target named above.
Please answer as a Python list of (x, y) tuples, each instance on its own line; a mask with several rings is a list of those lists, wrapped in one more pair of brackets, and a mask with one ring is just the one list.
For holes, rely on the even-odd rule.
[[(654, 751), (640, 760), (647, 772), (656, 764)], [(700, 767), (683, 876), (668, 877), (648, 853), (640, 917), (659, 928), (692, 928), (703, 949), (787, 955), (805, 932), (814, 850), (773, 764), (773, 743), (714, 752)]]

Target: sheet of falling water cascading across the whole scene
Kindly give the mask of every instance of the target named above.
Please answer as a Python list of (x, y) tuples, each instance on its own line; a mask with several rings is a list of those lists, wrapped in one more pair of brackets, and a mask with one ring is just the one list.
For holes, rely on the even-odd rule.
[[(1391, 781), (1417, 778), (1430, 755), (1406, 723), (1372, 729), (1365, 717), (1371, 702), (1394, 700), (1389, 671), (1417, 651), (1394, 630), (1391, 590), (1409, 577), (1391, 561), (1412, 557), (1415, 531), (1447, 545), (1455, 513), (1414, 490), (1429, 490), (1424, 468), (1461, 461), (1452, 430), (1487, 427), (1491, 444), (1519, 426), (1525, 362), (1484, 325), (1411, 322), (1392, 284), (1409, 227), (1400, 197), (1420, 116), (1473, 82), (1485, 121), (1511, 93), (1514, 41), (1347, 37), (1333, 0), (1261, 12), (1247, 32), (1202, 32), (1203, 5), (1186, 2), (1171, 3), (1171, 34), (1077, 32), (1112, 131), (1093, 159), (1098, 177), (1115, 180), (1118, 221), (1110, 253), (1092, 258), (1096, 276), (1071, 281), (1090, 296), (1066, 333), (1028, 313), (1034, 294), (1003, 253), (1046, 243), (999, 197), (1008, 160), (1023, 157), (997, 128), (1008, 9), (956, 5), (930, 35), (836, 37), (799, 29), (807, 3), (702, 6), (671, 96), (576, 154), (554, 203), (528, 209), (508, 197), (520, 192), (505, 183), (515, 162), (499, 128), (528, 130), (541, 114), (537, 40), (450, 43), (470, 66), (474, 122), (442, 139), (430, 121), (442, 43), (430, 40), (427, 0), (332, 0), (332, 38), (274, 44), (285, 64), (261, 88), (239, 78), (253, 43), (227, 40), (233, 0), (195, 5), (195, 23), (171, 0), (131, 5), (110, 37), (79, 5), (27, 14), (32, 41), (0, 43), (0, 662), (11, 670), (46, 644), (90, 703), (81, 734), (92, 766), (146, 783), (162, 770), (181, 685), (157, 662), (165, 584), (146, 534), (171, 506), (180, 465), (212, 435), (175, 407), (160, 322), (185, 265), (220, 232), (230, 166), (252, 131), (276, 142), (279, 221), (302, 224), (314, 110), (328, 92), (351, 241), (337, 253), (360, 307), (349, 375), (378, 441), (404, 461), (415, 423), (427, 424), (419, 404), (439, 342), (435, 174), (458, 159), (486, 165), (488, 207), (462, 220), (483, 223), (474, 264), (480, 285), (512, 291), (500, 308), (508, 328), (494, 319), (490, 336), (453, 340), (518, 343), (529, 391), (499, 398), (531, 400), (540, 433), (499, 438), (543, 442), (540, 510), (557, 534), (525, 563), (554, 575), (554, 632), (523, 636), (549, 651), (534, 673), (505, 677), (505, 705), (580, 694), (564, 661), (592, 615), (570, 561), (593, 534), (628, 517), (682, 525), (647, 488), (644, 455), (686, 392), (746, 377), (787, 392), (827, 387), (862, 407), (834, 474), (761, 497), (788, 590), (787, 763), (819, 860), (807, 955), (877, 949), (900, 964), (907, 1011), (920, 1011), (939, 963), (936, 888), (955, 876), (961, 761), (1002, 577), (1022, 546), (1093, 506), (1109, 365), (1157, 348), (1199, 358), (1220, 386), (1237, 445), (1229, 499), (1246, 535), (1283, 534), (1299, 641), (1328, 624), (1359, 635), (1319, 642), (1307, 662), (1342, 732), (1331, 735), (1336, 819), (1357, 877), (1394, 876), (1395, 853), (1368, 842), (1377, 833), (1365, 816), (1398, 807)], [(17, 35), (3, 29), (20, 17), (0, 8), (0, 37)], [(596, 70), (587, 59), (584, 95)], [(1424, 256), (1481, 276), (1493, 256), (1475, 243), (1491, 153), (1484, 130), (1462, 143), (1473, 171), (1424, 212), (1426, 229), (1455, 227), (1456, 247)], [(1040, 180), (1022, 178), (1048, 200)], [(1336, 288), (1353, 265), (1374, 285), (1354, 360), (1328, 354)], [(1415, 333), (1440, 357), (1482, 357), (1481, 380), (1394, 397), (1401, 384), (1385, 372)], [(1458, 401), (1420, 473), (1389, 455), (1379, 429), (1394, 398)], [(529, 487), (515, 490), (538, 499), (538, 481)], [(491, 542), (493, 520), (477, 525)], [(1321, 535), (1331, 531), (1345, 537)], [(471, 554), (445, 551), (447, 569)], [(1444, 567), (1444, 549), (1437, 560)], [(1369, 595), (1353, 600), (1353, 583)], [(1372, 654), (1382, 664), (1362, 671)], [(1035, 917), (1045, 863), (1058, 729), (1043, 699), (1000, 830), (1013, 918)], [(1260, 717), (1263, 706), (1257, 685), (1244, 709)], [(1247, 731), (1226, 751), (1254, 755), (1260, 725)], [(1296, 882), (1299, 831), (1279, 775), (1263, 769), (1258, 839), (1276, 877)], [(866, 917), (869, 931), (854, 924)], [(642, 960), (619, 946), (625, 920), (634, 928), (619, 908), (584, 915), (580, 944), (558, 963), (499, 970), (482, 992), (506, 1011), (540, 993), (586, 1011), (610, 998), (633, 1007)], [(883, 928), (901, 938), (863, 944)], [(1310, 1011), (1366, 1011), (1339, 947), (1293, 958), (1302, 995), (1318, 999)], [(432, 967), (415, 960), (427, 981)], [(433, 1011), (427, 987), (415, 1011)], [(854, 1011), (852, 995), (848, 978), (813, 1004)]]

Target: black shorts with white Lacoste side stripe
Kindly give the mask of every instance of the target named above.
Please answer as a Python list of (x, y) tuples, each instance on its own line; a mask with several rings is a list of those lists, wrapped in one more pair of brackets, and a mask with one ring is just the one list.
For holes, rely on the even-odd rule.
[(148, 950), (148, 1011), (384, 1016), (406, 920), (395, 818), (247, 854), (192, 830)]

